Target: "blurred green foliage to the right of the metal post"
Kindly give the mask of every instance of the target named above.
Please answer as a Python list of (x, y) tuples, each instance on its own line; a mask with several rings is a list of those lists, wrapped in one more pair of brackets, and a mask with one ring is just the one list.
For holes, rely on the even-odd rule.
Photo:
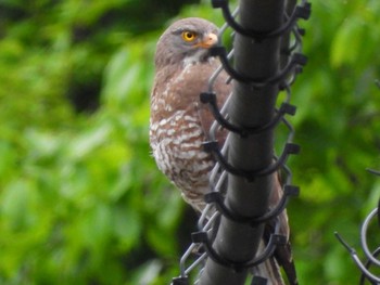
[[(378, 14), (376, 1), (313, 3), (309, 62), (293, 93), (300, 157), (291, 159), (301, 198), (289, 206), (304, 284), (356, 284), (359, 271), (333, 237), (358, 247), (358, 229), (379, 198)], [(350, 281), (350, 282), (349, 282)]]

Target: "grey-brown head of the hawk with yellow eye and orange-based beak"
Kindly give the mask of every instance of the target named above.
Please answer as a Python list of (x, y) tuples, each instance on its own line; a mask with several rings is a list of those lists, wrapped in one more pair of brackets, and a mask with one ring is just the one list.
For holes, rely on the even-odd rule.
[(188, 17), (175, 22), (157, 42), (156, 68), (207, 61), (210, 48), (218, 42), (217, 33), (218, 28), (203, 18)]

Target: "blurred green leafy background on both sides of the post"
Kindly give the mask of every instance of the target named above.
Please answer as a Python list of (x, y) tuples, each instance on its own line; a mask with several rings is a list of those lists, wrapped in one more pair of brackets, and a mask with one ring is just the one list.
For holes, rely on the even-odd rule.
[[(380, 196), (380, 2), (315, 1), (293, 87), (301, 284), (358, 284), (337, 242)], [(210, 1), (0, 1), (0, 284), (168, 284), (195, 229), (148, 144), (155, 42)], [(379, 245), (373, 231), (373, 248)], [(358, 250), (362, 255), (362, 251)]]

